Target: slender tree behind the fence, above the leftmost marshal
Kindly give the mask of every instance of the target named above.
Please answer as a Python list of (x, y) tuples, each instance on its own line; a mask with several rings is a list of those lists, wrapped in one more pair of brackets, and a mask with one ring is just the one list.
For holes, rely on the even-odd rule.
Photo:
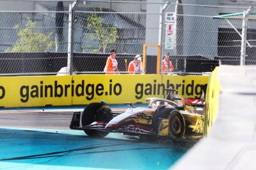
[[(88, 17), (88, 26), (92, 28), (94, 34), (90, 34), (90, 40), (99, 41), (98, 49), (94, 49), (93, 52), (106, 52), (106, 49), (112, 43), (115, 43), (118, 38), (116, 27), (106, 24), (105, 27), (102, 24), (103, 18), (92, 13)], [(96, 36), (95, 36), (96, 34)]]

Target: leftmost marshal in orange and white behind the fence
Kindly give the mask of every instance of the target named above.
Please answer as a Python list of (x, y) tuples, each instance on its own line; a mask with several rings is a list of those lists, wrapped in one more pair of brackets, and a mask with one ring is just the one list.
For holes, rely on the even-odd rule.
[(116, 50), (111, 50), (111, 54), (108, 57), (106, 62), (106, 66), (104, 67), (104, 73), (106, 74), (116, 74), (118, 71), (118, 62), (115, 59), (116, 57)]

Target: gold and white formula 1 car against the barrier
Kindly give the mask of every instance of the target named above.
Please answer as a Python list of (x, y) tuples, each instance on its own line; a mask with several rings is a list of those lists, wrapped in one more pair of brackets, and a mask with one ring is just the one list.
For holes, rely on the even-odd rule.
[(125, 103), (131, 108), (123, 113), (111, 111), (104, 101), (88, 104), (82, 117), (80, 112), (74, 112), (70, 129), (83, 130), (88, 136), (97, 138), (109, 132), (121, 132), (150, 139), (198, 141), (204, 135), (204, 101), (180, 98), (174, 91), (168, 89), (166, 99), (146, 99), (147, 108)]

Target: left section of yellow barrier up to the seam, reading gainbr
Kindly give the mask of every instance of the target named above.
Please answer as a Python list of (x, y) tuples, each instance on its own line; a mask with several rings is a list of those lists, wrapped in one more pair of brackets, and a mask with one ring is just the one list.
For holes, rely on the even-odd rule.
[[(71, 105), (71, 94), (63, 85), (70, 84), (72, 76), (11, 76), (0, 77), (0, 106), (30, 107)], [(65, 92), (67, 91), (67, 92)]]

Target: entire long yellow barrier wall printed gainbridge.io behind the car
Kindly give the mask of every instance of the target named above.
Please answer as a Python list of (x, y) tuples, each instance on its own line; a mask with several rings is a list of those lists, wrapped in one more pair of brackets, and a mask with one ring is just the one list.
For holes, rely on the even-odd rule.
[(117, 74), (0, 77), (0, 106), (68, 106), (100, 99), (110, 104), (145, 102), (175, 88), (184, 97), (200, 96), (209, 76)]

